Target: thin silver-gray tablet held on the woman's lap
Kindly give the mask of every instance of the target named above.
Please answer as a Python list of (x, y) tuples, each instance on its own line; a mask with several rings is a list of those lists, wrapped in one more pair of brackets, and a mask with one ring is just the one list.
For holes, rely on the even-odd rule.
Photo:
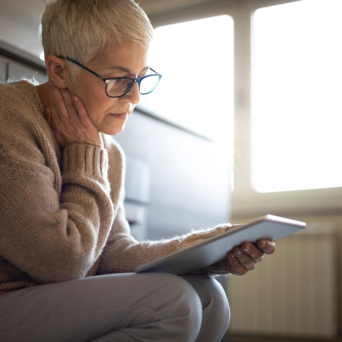
[(136, 267), (134, 272), (190, 274), (192, 271), (227, 259), (227, 253), (244, 242), (255, 243), (262, 238), (275, 241), (305, 227), (304, 222), (267, 214), (247, 224), (238, 225), (226, 232), (208, 237), (192, 246)]

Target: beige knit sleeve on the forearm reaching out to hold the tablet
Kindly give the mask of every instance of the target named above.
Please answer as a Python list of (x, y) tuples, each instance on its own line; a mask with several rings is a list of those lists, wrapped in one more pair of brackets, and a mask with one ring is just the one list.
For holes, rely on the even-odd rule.
[[(125, 218), (125, 207), (123, 199), (121, 199), (107, 245), (100, 259), (97, 274), (133, 272), (137, 266), (191, 246), (210, 236), (225, 232), (229, 227), (231, 227), (230, 223), (223, 223), (207, 229), (192, 230), (188, 234), (174, 236), (170, 239), (138, 242), (130, 235), (130, 227)], [(224, 263), (220, 261), (193, 273), (216, 276), (227, 274), (227, 271)]]

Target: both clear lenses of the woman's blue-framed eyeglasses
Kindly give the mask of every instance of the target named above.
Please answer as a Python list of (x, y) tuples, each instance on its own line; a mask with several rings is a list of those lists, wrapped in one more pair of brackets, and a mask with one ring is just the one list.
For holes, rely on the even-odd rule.
[[(145, 77), (140, 82), (139, 92), (140, 94), (148, 94), (158, 85), (159, 76), (149, 75)], [(107, 94), (109, 96), (120, 96), (125, 94), (125, 92), (131, 87), (133, 81), (129, 79), (118, 79), (110, 80), (107, 83)]]

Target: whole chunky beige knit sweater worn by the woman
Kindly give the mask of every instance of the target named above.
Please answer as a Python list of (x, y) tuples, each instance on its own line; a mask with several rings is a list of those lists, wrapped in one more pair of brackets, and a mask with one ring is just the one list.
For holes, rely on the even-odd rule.
[[(182, 236), (138, 242), (125, 218), (125, 153), (61, 149), (33, 84), (0, 85), (0, 294), (134, 267), (219, 234), (222, 223)], [(227, 274), (224, 262), (197, 270)]]

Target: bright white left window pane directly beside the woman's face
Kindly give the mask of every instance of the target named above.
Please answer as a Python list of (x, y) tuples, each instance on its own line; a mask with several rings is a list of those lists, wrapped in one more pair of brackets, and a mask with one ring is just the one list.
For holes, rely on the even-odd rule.
[(233, 141), (234, 26), (223, 15), (158, 27), (149, 64), (163, 74), (142, 107), (181, 126)]

